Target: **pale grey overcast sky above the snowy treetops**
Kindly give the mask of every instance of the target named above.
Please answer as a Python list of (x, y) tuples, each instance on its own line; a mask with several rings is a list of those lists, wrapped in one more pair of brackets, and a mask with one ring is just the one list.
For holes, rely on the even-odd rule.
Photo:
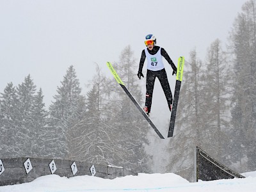
[(194, 48), (204, 60), (216, 38), (225, 45), (245, 2), (0, 0), (0, 92), (7, 83), (17, 86), (30, 74), (49, 106), (70, 65), (85, 90), (95, 63), (108, 74), (106, 62), (117, 62), (127, 45), (139, 63), (148, 33), (156, 36), (157, 45), (166, 49), (175, 65), (179, 56), (188, 58)]

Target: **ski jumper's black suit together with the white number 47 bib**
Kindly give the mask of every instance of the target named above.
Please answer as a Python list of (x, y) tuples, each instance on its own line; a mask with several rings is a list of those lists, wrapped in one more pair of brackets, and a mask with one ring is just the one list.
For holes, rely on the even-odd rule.
[(146, 57), (148, 60), (147, 82), (146, 82), (147, 93), (146, 93), (146, 101), (145, 101), (145, 106), (148, 107), (148, 113), (150, 113), (150, 110), (151, 110), (154, 83), (155, 83), (156, 77), (159, 79), (161, 83), (169, 109), (170, 109), (170, 105), (172, 104), (172, 100), (173, 100), (172, 92), (170, 89), (170, 85), (168, 83), (166, 71), (164, 69), (163, 56), (168, 61), (168, 63), (172, 66), (173, 70), (176, 71), (177, 68), (175, 67), (170, 56), (167, 54), (167, 52), (163, 48), (159, 46), (154, 46), (154, 48), (151, 51), (146, 48), (141, 53), (139, 72), (142, 72), (142, 68), (143, 68)]

